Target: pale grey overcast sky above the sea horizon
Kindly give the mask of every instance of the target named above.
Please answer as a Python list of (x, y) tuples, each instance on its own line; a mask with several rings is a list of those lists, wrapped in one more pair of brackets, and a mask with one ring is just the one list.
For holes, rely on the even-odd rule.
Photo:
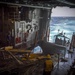
[(66, 17), (75, 17), (75, 8), (69, 7), (56, 7), (52, 9), (51, 16), (66, 16)]

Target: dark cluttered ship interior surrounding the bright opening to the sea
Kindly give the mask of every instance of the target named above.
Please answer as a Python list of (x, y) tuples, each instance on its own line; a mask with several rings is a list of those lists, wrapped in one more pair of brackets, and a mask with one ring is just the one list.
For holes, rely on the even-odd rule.
[(0, 75), (75, 75), (75, 31), (49, 41), (57, 6), (75, 8), (75, 1), (0, 0)]

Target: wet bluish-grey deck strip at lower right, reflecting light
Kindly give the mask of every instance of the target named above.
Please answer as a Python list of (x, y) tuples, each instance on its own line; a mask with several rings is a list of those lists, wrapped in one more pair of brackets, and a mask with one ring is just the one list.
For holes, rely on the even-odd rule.
[(57, 66), (51, 73), (51, 75), (68, 75), (68, 71), (70, 70), (70, 66), (75, 59), (75, 51), (71, 55), (67, 53), (67, 62), (59, 62), (59, 66)]

